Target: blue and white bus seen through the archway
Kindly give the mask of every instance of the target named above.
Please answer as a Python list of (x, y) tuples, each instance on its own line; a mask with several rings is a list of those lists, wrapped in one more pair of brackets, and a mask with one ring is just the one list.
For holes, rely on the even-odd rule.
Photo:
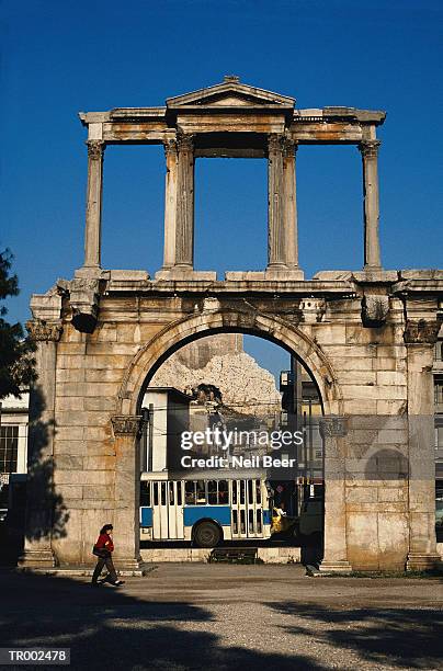
[(222, 541), (271, 536), (272, 502), (264, 477), (194, 478), (141, 474), (141, 541), (192, 541), (197, 547), (215, 547)]

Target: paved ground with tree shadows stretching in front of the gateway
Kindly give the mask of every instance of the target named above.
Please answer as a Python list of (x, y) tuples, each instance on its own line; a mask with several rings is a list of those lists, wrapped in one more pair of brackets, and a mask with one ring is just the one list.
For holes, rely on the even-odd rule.
[(72, 669), (443, 669), (442, 604), (440, 579), (297, 566), (168, 564), (120, 590), (4, 570), (0, 646), (70, 647)]

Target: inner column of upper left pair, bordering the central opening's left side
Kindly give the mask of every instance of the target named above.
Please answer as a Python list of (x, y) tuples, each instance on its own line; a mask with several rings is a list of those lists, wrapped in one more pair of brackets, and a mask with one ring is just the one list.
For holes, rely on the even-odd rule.
[(180, 134), (178, 145), (178, 208), (175, 265), (194, 268), (194, 136)]

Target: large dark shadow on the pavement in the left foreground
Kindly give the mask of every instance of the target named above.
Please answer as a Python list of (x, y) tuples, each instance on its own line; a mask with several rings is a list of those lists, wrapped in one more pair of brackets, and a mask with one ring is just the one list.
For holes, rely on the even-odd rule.
[(0, 646), (70, 648), (70, 669), (325, 669), (309, 655), (226, 647), (213, 633), (192, 630), (212, 614), (184, 601), (143, 601), (79, 580), (7, 570), (0, 594)]

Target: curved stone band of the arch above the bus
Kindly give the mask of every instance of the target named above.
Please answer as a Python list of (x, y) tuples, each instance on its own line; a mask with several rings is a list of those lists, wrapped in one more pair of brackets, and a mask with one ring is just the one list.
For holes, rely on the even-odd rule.
[[(211, 299), (209, 299), (211, 302)], [(292, 352), (315, 380), (325, 414), (340, 414), (342, 395), (330, 362), (318, 344), (300, 328), (286, 320), (236, 308), (217, 307), (186, 316), (164, 327), (140, 348), (126, 369), (120, 393), (121, 414), (138, 414), (143, 395), (158, 367), (181, 346), (220, 332), (242, 332), (270, 340)]]

